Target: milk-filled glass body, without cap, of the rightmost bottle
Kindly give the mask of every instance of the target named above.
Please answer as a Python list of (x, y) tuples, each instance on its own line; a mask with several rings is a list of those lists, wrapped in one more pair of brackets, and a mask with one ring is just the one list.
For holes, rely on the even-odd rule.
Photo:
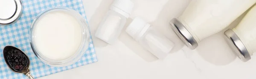
[(243, 20), (232, 30), (239, 37), (245, 48), (252, 56), (256, 52), (256, 6), (250, 9)]

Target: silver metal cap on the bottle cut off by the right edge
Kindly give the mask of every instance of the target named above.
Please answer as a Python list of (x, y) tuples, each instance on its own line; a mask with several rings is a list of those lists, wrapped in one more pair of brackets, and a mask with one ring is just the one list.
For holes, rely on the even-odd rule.
[(226, 35), (225, 39), (227, 40), (230, 47), (243, 62), (247, 62), (251, 59), (250, 54), (245, 48), (243, 42), (240, 40), (240, 38), (236, 35), (234, 31), (228, 29), (224, 32), (224, 34)]

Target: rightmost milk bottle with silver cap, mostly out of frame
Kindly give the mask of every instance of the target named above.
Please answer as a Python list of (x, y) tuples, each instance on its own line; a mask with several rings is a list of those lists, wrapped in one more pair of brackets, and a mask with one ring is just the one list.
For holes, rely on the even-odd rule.
[(225, 31), (227, 41), (233, 51), (244, 62), (251, 59), (250, 56), (256, 52), (256, 6), (241, 20), (239, 25), (232, 30)]

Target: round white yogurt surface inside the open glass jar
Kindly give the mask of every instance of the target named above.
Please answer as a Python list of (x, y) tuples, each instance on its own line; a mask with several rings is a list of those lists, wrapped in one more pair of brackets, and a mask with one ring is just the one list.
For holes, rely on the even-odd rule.
[(82, 28), (76, 17), (65, 11), (52, 11), (34, 26), (34, 44), (42, 56), (51, 60), (67, 59), (77, 52)]

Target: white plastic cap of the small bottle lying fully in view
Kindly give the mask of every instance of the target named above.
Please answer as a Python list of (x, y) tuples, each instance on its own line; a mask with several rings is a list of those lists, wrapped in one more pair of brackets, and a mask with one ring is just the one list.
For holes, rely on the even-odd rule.
[(126, 28), (126, 32), (134, 38), (134, 40), (138, 41), (140, 37), (145, 34), (145, 32), (150, 27), (150, 24), (146, 23), (139, 17), (136, 17), (131, 24)]

